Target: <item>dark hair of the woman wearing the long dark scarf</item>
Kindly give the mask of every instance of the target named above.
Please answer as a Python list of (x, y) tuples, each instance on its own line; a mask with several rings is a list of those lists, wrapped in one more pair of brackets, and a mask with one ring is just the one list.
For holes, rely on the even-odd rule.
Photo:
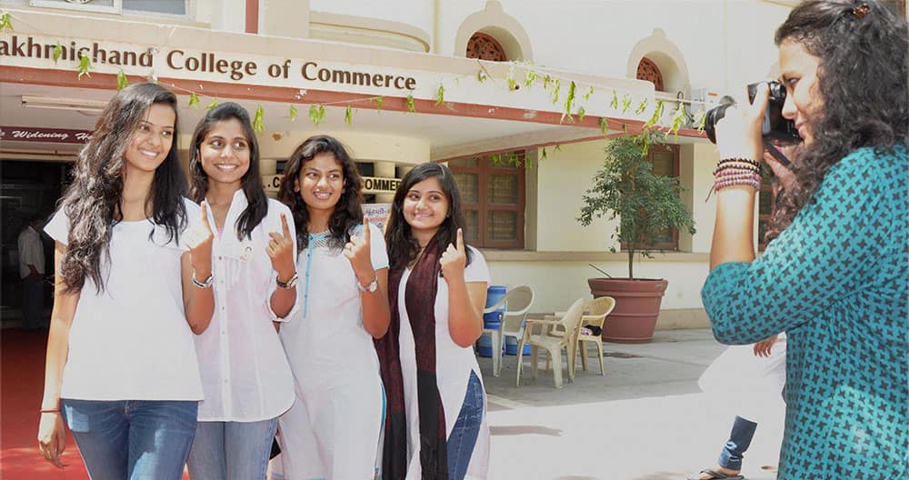
[[(442, 255), (448, 244), (454, 244), (457, 239), (457, 229), (464, 228), (464, 209), (461, 207), (461, 193), (454, 183), (454, 175), (447, 166), (442, 164), (425, 163), (416, 165), (401, 180), (395, 191), (395, 200), (392, 201), (391, 215), (385, 224), (385, 244), (388, 246), (389, 270), (404, 268), (420, 254), (420, 245), (411, 234), (410, 224), (404, 218), (404, 201), (407, 193), (414, 185), (427, 178), (435, 177), (442, 185), (442, 193), (448, 200), (448, 216), (435, 235), (439, 237), (438, 252)], [(473, 255), (470, 249), (464, 248), (467, 255), (467, 265), (470, 265)]]

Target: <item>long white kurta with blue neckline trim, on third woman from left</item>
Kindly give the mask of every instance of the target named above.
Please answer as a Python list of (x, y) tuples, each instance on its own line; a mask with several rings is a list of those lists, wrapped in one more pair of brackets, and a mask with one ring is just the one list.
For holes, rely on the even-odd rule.
[[(385, 239), (375, 225), (370, 237), (373, 268), (387, 268)], [(297, 261), (300, 311), (281, 326), (296, 386), (294, 406), (278, 419), (281, 468), (287, 480), (370, 479), (385, 418), (379, 361), (363, 327), (350, 260), (312, 247), (312, 238)]]

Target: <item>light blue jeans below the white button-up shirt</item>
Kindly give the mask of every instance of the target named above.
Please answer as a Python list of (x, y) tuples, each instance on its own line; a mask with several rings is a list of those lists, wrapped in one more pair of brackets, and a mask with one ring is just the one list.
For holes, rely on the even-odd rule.
[(259, 422), (199, 422), (189, 450), (193, 480), (265, 478), (277, 417)]

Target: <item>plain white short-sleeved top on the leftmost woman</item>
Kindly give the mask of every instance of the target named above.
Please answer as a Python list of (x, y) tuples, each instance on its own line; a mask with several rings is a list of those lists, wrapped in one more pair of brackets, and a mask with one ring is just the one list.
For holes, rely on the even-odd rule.
[[(190, 225), (199, 206), (184, 199)], [(69, 219), (61, 210), (45, 232), (67, 244)], [(149, 234), (155, 232), (152, 239)], [(149, 220), (114, 225), (101, 255), (105, 291), (91, 278), (75, 307), (60, 396), (79, 400), (201, 400), (193, 332), (183, 306), (180, 257), (188, 248), (167, 241)]]

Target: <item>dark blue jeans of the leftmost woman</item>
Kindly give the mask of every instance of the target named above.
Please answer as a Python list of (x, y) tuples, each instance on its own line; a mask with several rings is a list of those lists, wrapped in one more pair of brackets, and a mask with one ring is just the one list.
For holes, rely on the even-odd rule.
[(195, 401), (63, 400), (92, 480), (180, 480), (195, 435)]

